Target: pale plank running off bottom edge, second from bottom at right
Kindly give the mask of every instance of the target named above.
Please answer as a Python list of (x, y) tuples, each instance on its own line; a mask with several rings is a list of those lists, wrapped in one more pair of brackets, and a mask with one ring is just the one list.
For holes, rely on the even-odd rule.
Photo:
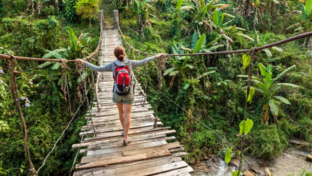
[(187, 167), (188, 164), (185, 161), (179, 161), (174, 163), (169, 163), (161, 166), (151, 167), (147, 169), (141, 169), (133, 172), (128, 172), (124, 174), (119, 174), (118, 176), (151, 176), (159, 173), (164, 173), (172, 171), (175, 169), (180, 169)]

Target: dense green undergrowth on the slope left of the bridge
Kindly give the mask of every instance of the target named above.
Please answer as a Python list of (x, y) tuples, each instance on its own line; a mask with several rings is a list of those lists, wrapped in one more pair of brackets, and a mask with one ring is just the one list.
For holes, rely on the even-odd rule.
[[(91, 15), (91, 22), (77, 15), (74, 5), (76, 0), (66, 0), (67, 4), (54, 2), (41, 4), (41, 13), (35, 9), (34, 15), (26, 11), (28, 1), (8, 0), (0, 2), (0, 53), (11, 53), (25, 57), (43, 57), (52, 50), (62, 48), (60, 54), (67, 59), (82, 58), (91, 54), (98, 45), (98, 12)], [(95, 1), (94, 1), (95, 3)], [(73, 5), (74, 4), (74, 5)], [(35, 4), (35, 7), (38, 4)], [(3, 11), (3, 9), (5, 9)], [(72, 52), (70, 29), (83, 47)], [(82, 34), (83, 35), (80, 35)], [(80, 38), (79, 38), (80, 36)], [(76, 55), (75, 55), (76, 54)], [(80, 55), (77, 55), (80, 54)], [(57, 55), (49, 58), (56, 58)], [(28, 132), (28, 144), (35, 169), (43, 163), (44, 157), (51, 151), (70, 121), (68, 98), (62, 91), (63, 80), (59, 65), (42, 66), (44, 62), (18, 61), (17, 76), (21, 97), (22, 113)], [(41, 67), (39, 67), (41, 65)], [(78, 88), (78, 73), (74, 64), (68, 64), (66, 70), (69, 92), (74, 113), (81, 103)], [(0, 59), (0, 175), (27, 175), (28, 161), (24, 152), (24, 135), (20, 118), (10, 93), (10, 70), (5, 61)], [(80, 92), (81, 93), (81, 92)], [(92, 94), (92, 92), (90, 92)], [(82, 95), (80, 95), (82, 96)], [(27, 98), (27, 99), (26, 99)], [(28, 102), (28, 101), (29, 102)], [(30, 105), (30, 106), (28, 106)], [(72, 144), (79, 143), (79, 132), (86, 124), (81, 107), (73, 123), (59, 141), (54, 152), (49, 156), (39, 175), (69, 175), (77, 150)], [(8, 126), (8, 129), (5, 128)]]

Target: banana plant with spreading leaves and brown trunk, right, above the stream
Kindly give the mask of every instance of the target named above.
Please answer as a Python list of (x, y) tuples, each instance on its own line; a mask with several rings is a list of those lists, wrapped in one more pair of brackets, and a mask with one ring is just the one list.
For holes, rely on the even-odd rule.
[[(286, 72), (288, 72), (293, 67), (295, 67), (295, 65), (286, 68), (284, 71), (279, 73), (275, 78), (272, 77), (273, 76), (273, 74), (272, 74), (273, 66), (272, 65), (264, 66), (262, 63), (259, 63), (258, 66), (259, 66), (259, 70), (261, 72), (262, 77), (261, 78), (252, 77), (252, 81), (256, 84), (256, 87), (252, 87), (252, 88), (256, 91), (261, 92), (265, 98), (265, 104), (262, 107), (262, 109), (264, 110), (262, 122), (268, 123), (269, 108), (270, 108), (271, 113), (272, 113), (274, 118), (278, 115), (279, 110), (275, 104), (276, 101), (280, 101), (280, 102), (285, 103), (287, 105), (291, 104), (286, 98), (284, 98), (282, 96), (275, 95), (276, 91), (279, 88), (281, 88), (282, 86), (289, 86), (289, 87), (294, 87), (294, 88), (299, 88), (301, 86), (291, 84), (291, 83), (274, 83), (279, 78), (281, 78)], [(237, 77), (248, 78), (248, 75), (237, 75)], [(252, 96), (253, 95), (250, 95), (249, 97), (252, 98)]]

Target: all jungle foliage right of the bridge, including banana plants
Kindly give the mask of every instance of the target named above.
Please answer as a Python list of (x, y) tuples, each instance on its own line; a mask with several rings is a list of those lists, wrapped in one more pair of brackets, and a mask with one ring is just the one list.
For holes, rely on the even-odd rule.
[[(143, 39), (131, 9), (122, 11), (119, 23), (128, 43), (144, 52), (183, 54), (252, 48), (312, 29), (311, 0), (142, 3), (149, 3), (149, 13), (158, 19), (143, 28)], [(251, 61), (248, 53), (167, 58), (161, 91), (235, 146), (240, 145), (236, 134), (245, 135), (244, 154), (274, 158), (290, 146), (293, 136), (310, 142), (306, 148), (311, 148), (311, 41), (307, 38), (259, 51), (252, 67), (248, 100), (244, 97), (246, 67)], [(156, 85), (156, 66), (155, 63), (148, 70), (138, 68), (137, 78), (146, 88), (156, 115), (177, 131), (178, 140), (189, 153), (186, 159), (199, 160), (210, 148), (225, 156), (231, 148), (228, 144), (151, 87)], [(251, 131), (248, 135), (240, 133), (249, 120), (253, 122)]]

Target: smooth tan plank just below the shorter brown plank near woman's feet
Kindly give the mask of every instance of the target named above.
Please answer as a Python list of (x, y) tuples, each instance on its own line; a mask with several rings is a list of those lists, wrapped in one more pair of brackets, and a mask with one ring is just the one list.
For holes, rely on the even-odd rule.
[(95, 162), (90, 162), (90, 163), (86, 163), (86, 164), (77, 164), (76, 169), (88, 169), (88, 168), (93, 168), (93, 167), (105, 166), (105, 165), (109, 165), (109, 164), (132, 162), (132, 161), (137, 161), (137, 160), (142, 160), (142, 159), (147, 159), (147, 158), (166, 156), (166, 155), (170, 155), (170, 154), (171, 153), (169, 152), (169, 150), (165, 149), (165, 150), (154, 151), (154, 152), (150, 152), (150, 153), (137, 154), (137, 155), (131, 155), (131, 156), (122, 156), (122, 157), (117, 157), (114, 159), (95, 161)]

